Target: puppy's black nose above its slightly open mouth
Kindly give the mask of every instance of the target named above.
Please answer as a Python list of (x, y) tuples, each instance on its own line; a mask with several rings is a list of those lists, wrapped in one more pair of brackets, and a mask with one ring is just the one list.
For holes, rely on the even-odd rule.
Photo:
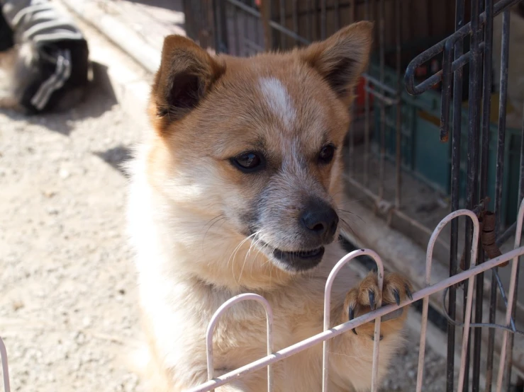
[(338, 226), (338, 215), (330, 205), (321, 200), (308, 204), (300, 218), (301, 224), (310, 234), (321, 241), (332, 241)]

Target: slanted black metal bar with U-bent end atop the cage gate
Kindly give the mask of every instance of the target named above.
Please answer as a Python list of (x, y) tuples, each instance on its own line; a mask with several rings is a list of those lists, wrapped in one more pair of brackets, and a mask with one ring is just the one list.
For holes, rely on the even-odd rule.
[[(517, 4), (520, 0), (500, 0), (496, 4), (494, 4), (494, 16), (498, 15), (498, 13), (501, 13), (506, 7), (513, 6), (514, 4)], [(479, 27), (480, 25), (484, 25), (486, 23), (486, 13), (483, 12), (479, 17)], [(418, 85), (415, 85), (415, 70), (420, 67), (420, 65), (424, 64), (430, 59), (433, 59), (437, 54), (442, 52), (444, 50), (445, 44), (447, 40), (459, 40), (460, 38), (465, 38), (467, 35), (472, 33), (472, 24), (467, 23), (466, 25), (463, 25), (462, 28), (459, 28), (459, 30), (455, 31), (452, 35), (450, 35), (448, 38), (445, 38), (444, 40), (438, 42), (437, 44), (433, 45), (433, 47), (430, 47), (428, 50), (425, 50), (421, 54), (419, 54), (417, 57), (415, 57), (411, 62), (409, 63), (408, 67), (406, 68), (406, 74), (405, 74), (405, 81), (406, 81), (406, 90), (411, 95), (420, 95), (424, 91), (428, 91), (430, 88), (435, 86), (436, 83), (440, 82), (442, 80), (442, 72), (439, 72), (430, 78), (426, 79), (425, 81), (419, 83)], [(467, 62), (467, 61), (466, 61)], [(465, 64), (465, 62), (464, 62)], [(455, 71), (455, 65), (453, 67), (453, 71)]]

